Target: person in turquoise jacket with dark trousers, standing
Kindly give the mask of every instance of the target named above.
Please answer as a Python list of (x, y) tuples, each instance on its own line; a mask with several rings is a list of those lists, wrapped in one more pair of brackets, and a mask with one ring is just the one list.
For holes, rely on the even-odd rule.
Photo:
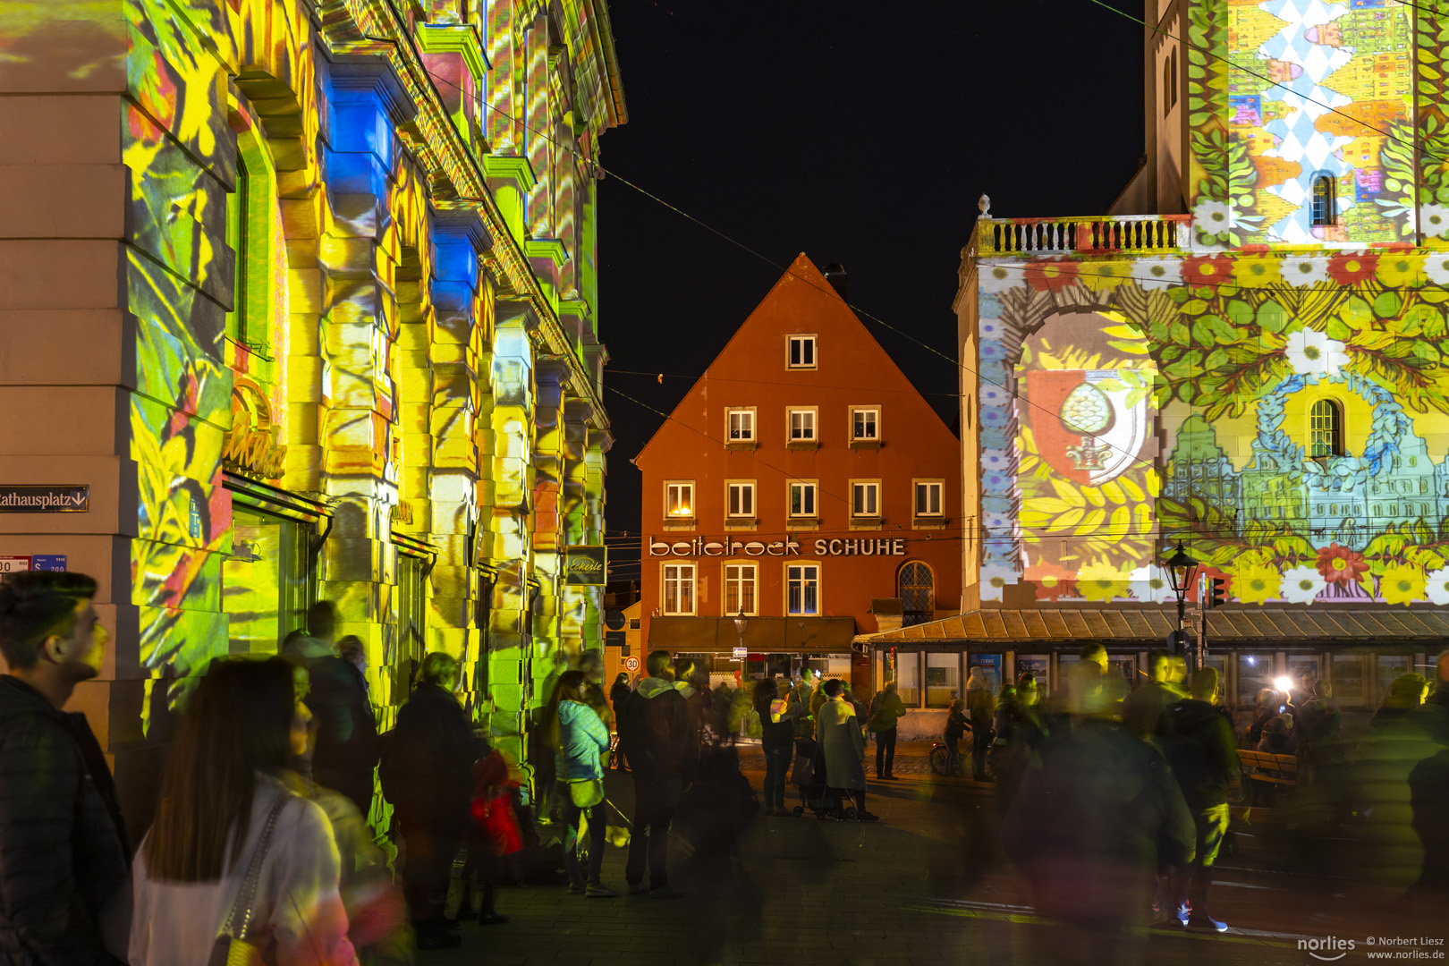
[[(568, 788), (559, 792), (564, 802), (564, 872), (568, 891), (591, 899), (611, 899), (619, 894), (601, 881), (604, 869), (604, 831), (607, 808), (603, 795), (604, 769), (600, 753), (609, 750), (609, 727), (588, 704), (588, 678), (582, 671), (567, 671), (558, 679), (558, 781)], [(597, 801), (591, 801), (597, 795)], [(580, 799), (584, 799), (582, 802)], [(588, 879), (578, 863), (578, 830), (588, 821)]]

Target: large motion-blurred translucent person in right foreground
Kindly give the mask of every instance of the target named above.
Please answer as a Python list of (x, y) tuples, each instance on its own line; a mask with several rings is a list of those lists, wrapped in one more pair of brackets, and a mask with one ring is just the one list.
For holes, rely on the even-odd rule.
[(1095, 662), (1071, 669), (1072, 724), (1046, 736), (1003, 821), (1037, 911), (1066, 927), (1033, 934), (1049, 949), (1032, 962), (1139, 962), (1159, 863), (1193, 859), (1193, 815), (1166, 760), (1111, 720), (1104, 685)]

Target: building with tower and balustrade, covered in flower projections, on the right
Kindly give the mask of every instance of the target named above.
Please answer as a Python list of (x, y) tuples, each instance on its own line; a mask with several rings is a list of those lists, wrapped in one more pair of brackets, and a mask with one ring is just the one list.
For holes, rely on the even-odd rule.
[(964, 253), (964, 608), (1029, 618), (939, 630), (1130, 668), (1175, 626), (1181, 540), (1229, 582), (1232, 698), (1266, 650), (1371, 707), (1449, 639), (1449, 22), (1148, 10), (1149, 159), (1113, 214), (987, 214)]

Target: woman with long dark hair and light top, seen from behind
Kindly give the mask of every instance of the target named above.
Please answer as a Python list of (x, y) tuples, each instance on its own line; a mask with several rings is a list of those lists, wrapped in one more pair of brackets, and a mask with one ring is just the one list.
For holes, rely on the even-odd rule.
[(132, 966), (209, 962), (258, 857), (251, 925), (238, 938), (268, 950), (270, 962), (356, 963), (332, 824), (283, 781), (307, 753), (310, 717), (287, 660), (212, 663), (181, 717), (155, 823), (136, 853)]

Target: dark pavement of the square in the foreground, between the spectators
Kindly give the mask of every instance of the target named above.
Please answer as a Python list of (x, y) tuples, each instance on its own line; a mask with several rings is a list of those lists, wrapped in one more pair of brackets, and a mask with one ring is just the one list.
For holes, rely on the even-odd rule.
[[(929, 747), (929, 746), (927, 746)], [(914, 749), (911, 749), (914, 750)], [(874, 753), (874, 750), (872, 750)], [(758, 749), (753, 752), (758, 757)], [(761, 775), (748, 766), (756, 788)], [(504, 925), (464, 923), (458, 950), (420, 953), (423, 966), (590, 965), (642, 966), (913, 966), (984, 963), (1055, 966), (1114, 963), (1081, 937), (1061, 931), (1030, 908), (997, 844), (997, 808), (988, 785), (920, 773), (919, 753), (897, 757), (898, 782), (869, 782), (868, 807), (880, 823), (761, 817), (723, 863), (671, 852), (680, 899), (585, 899), (562, 886), (501, 888)], [(632, 812), (632, 782), (610, 773), (610, 801)], [(1259, 827), (1261, 833), (1262, 828)], [(1364, 910), (1335, 899), (1332, 882), (1281, 870), (1252, 827), (1236, 856), (1220, 860), (1214, 912), (1233, 928), (1223, 936), (1159, 927), (1145, 937), (1153, 966), (1314, 963), (1298, 938), (1355, 937), (1340, 963), (1368, 962)], [(677, 846), (678, 841), (671, 843)], [(1279, 869), (1279, 870), (1275, 870)], [(623, 850), (610, 847), (604, 882), (620, 892)], [(1343, 908), (1350, 907), (1350, 908)], [(1327, 910), (1313, 914), (1308, 910)], [(1390, 925), (1381, 936), (1445, 934), (1442, 911)], [(1433, 925), (1429, 925), (1433, 923)], [(1395, 933), (1395, 930), (1400, 930)], [(1445, 947), (1439, 947), (1443, 950)]]

